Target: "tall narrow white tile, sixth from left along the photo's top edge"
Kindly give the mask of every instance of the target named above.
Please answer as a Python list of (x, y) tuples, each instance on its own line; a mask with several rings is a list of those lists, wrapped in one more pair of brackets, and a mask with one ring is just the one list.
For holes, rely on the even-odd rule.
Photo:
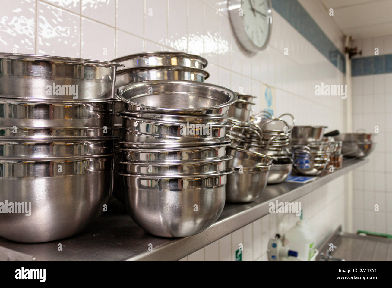
[(167, 19), (168, 46), (176, 51), (187, 51), (187, 1), (169, 0)]

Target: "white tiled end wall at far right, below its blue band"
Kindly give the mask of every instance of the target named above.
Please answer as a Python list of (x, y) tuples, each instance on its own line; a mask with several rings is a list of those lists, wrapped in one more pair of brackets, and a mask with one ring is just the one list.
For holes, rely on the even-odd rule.
[[(385, 43), (386, 39), (377, 39)], [(374, 41), (376, 42), (376, 41)], [(381, 45), (379, 45), (382, 47)], [(381, 50), (380, 50), (381, 51)], [(354, 230), (392, 234), (392, 73), (352, 77), (353, 129), (379, 133), (369, 163), (354, 171)], [(374, 205), (379, 211), (374, 211)], [(362, 216), (364, 215), (364, 217)]]

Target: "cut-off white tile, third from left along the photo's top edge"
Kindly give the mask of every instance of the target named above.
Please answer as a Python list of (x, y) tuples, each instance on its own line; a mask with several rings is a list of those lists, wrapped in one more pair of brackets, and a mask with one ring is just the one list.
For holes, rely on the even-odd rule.
[(114, 27), (116, 25), (116, 1), (82, 0), (82, 16)]

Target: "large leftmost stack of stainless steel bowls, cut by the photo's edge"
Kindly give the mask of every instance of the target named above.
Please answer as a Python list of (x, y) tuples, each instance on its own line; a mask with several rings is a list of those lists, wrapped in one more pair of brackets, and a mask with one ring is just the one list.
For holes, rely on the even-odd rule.
[(102, 214), (113, 191), (118, 65), (0, 54), (0, 198), (22, 208), (0, 214), (2, 237), (62, 239)]

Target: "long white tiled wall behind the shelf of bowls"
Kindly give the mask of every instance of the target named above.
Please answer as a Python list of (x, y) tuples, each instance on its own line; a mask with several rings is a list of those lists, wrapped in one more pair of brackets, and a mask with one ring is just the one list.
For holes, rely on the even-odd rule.
[[(294, 1), (294, 0), (292, 0)], [(343, 35), (320, 16), (321, 3), (300, 0), (337, 47)], [(276, 89), (275, 114), (290, 112), (299, 125), (345, 129), (344, 101), (315, 96), (315, 85), (344, 84), (339, 71), (279, 13), (272, 11), (270, 44), (245, 53), (231, 30), (225, 0), (0, 0), (0, 51), (111, 60), (142, 51), (176, 50), (209, 61), (207, 82), (257, 96), (262, 84)], [(284, 49), (289, 54), (285, 55)], [(323, 239), (345, 219), (345, 179), (299, 199), (305, 218)], [(270, 214), (189, 255), (188, 260), (232, 260), (238, 243), (244, 260), (265, 260), (267, 240), (294, 225), (296, 217)], [(283, 228), (279, 228), (283, 225)], [(233, 251), (234, 249), (234, 251)]]

